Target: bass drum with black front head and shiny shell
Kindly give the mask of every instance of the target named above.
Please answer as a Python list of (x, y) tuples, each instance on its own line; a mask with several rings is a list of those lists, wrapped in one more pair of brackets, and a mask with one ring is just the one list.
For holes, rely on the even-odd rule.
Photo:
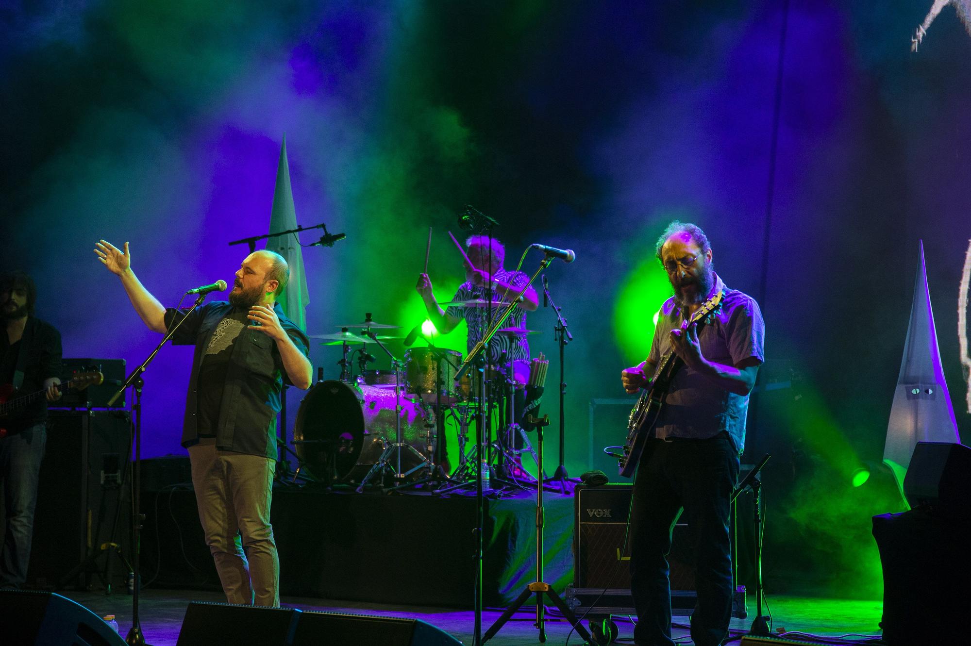
[[(431, 455), (424, 406), (400, 398), (403, 441), (422, 456)], [(394, 390), (319, 381), (304, 396), (293, 429), (293, 443), (302, 465), (321, 480), (359, 482), (378, 462), (385, 443), (395, 436)], [(434, 440), (434, 437), (432, 437)], [(405, 449), (402, 471), (419, 464)]]

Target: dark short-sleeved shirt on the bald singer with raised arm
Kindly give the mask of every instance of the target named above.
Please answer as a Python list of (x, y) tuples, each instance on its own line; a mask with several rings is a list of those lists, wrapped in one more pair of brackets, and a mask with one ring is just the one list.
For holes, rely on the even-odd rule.
[[(199, 441), (199, 375), (207, 360), (219, 322), (231, 316), (234, 307), (224, 301), (214, 301), (196, 308), (172, 337), (175, 344), (194, 344), (192, 373), (185, 398), (183, 446)], [(309, 354), (310, 341), (279, 305), (274, 305), (286, 334), (304, 355)], [(165, 324), (171, 329), (181, 312), (166, 309)], [(210, 433), (216, 435), (216, 446), (225, 451), (277, 457), (277, 413), (280, 412), (284, 384), (290, 384), (284, 370), (277, 342), (258, 330), (244, 329), (233, 339), (225, 379), (218, 404), (218, 420)], [(207, 388), (214, 384), (208, 383)]]

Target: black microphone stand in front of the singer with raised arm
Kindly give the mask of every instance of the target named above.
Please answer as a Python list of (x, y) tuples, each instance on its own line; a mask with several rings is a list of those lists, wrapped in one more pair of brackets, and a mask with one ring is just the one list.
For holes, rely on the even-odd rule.
[[(131, 387), (135, 391), (135, 398), (131, 404), (132, 410), (135, 412), (135, 461), (131, 469), (131, 486), (134, 490), (131, 497), (132, 504), (132, 514), (131, 514), (131, 543), (132, 543), (132, 554), (131, 554), (131, 565), (132, 574), (134, 576), (134, 585), (132, 589), (131, 596), (131, 630), (128, 630), (128, 634), (125, 637), (125, 643), (131, 646), (142, 646), (145, 644), (145, 635), (142, 633), (142, 623), (138, 617), (138, 598), (139, 592), (142, 587), (142, 578), (140, 572), (141, 565), (141, 539), (140, 534), (142, 531), (142, 521), (145, 516), (142, 514), (142, 489), (141, 489), (141, 471), (142, 471), (142, 388), (145, 386), (145, 379), (142, 378), (142, 373), (149, 368), (151, 360), (155, 358), (158, 351), (162, 349), (162, 346), (172, 339), (172, 335), (176, 333), (176, 330), (183, 324), (185, 318), (192, 313), (192, 310), (196, 307), (202, 305), (202, 302), (206, 300), (205, 294), (199, 294), (195, 298), (195, 303), (192, 307), (189, 307), (188, 311), (185, 312), (184, 316), (172, 326), (172, 329), (165, 333), (162, 340), (158, 341), (158, 345), (155, 349), (151, 351), (149, 357), (142, 362), (142, 365), (131, 371), (128, 378), (124, 380), (121, 387), (118, 388), (117, 393), (112, 396), (112, 399), (108, 401), (108, 406), (117, 402), (117, 399), (121, 397), (125, 389)], [(180, 313), (180, 312), (177, 312)]]

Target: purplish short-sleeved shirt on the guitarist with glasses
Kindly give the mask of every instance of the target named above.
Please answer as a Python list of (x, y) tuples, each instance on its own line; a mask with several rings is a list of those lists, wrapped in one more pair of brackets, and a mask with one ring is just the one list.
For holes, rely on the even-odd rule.
[[(725, 287), (717, 275), (715, 289), (724, 289), (725, 295), (713, 321), (698, 333), (702, 356), (727, 366), (735, 366), (749, 357), (765, 361), (765, 323), (758, 304), (751, 296)], [(649, 362), (657, 365), (662, 356), (671, 352), (670, 332), (681, 327), (683, 321), (674, 297), (665, 301), (657, 318)], [(745, 448), (748, 412), (748, 395), (730, 393), (704, 375), (682, 366), (664, 398), (654, 436), (704, 439), (724, 431), (741, 454)]]

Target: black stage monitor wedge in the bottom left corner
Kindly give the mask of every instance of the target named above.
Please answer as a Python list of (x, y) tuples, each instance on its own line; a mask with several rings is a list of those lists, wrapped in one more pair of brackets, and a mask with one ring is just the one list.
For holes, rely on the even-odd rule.
[(100, 617), (53, 593), (0, 590), (0, 643), (4, 646), (124, 646)]

